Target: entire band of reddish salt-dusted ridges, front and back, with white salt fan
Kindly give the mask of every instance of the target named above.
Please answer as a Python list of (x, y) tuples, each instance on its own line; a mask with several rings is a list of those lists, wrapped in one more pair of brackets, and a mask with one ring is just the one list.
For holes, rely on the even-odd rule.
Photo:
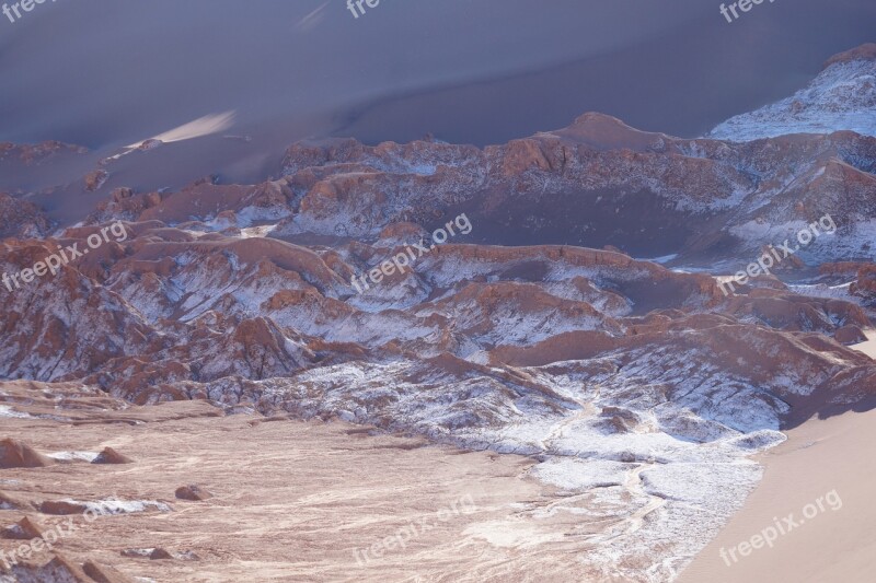
[[(633, 510), (581, 560), (662, 581), (757, 482), (747, 455), (876, 405), (876, 362), (845, 346), (872, 326), (874, 172), (853, 131), (684, 140), (586, 114), (485, 149), (299, 143), (262, 184), (119, 188), (53, 233), (7, 197), (7, 273), (127, 236), (0, 289), (0, 376), (539, 456), (576, 492), (596, 464)], [(781, 280), (713, 277), (823, 217)]]

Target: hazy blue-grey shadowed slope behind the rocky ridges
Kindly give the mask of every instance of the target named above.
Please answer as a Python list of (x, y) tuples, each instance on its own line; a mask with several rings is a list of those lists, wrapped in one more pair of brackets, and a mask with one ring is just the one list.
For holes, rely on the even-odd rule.
[(105, 149), (232, 109), (230, 132), (272, 143), (485, 144), (587, 110), (696, 136), (876, 40), (873, 0), (734, 24), (719, 3), (382, 0), (354, 20), (345, 0), (58, 0), (0, 20), (0, 140)]

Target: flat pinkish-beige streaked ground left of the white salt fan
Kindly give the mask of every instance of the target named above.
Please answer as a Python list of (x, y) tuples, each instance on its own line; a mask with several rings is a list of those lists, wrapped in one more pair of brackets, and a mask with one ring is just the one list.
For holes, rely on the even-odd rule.
[[(10, 385), (2, 389), (7, 408), (14, 403), (15, 411), (38, 412), (39, 399), (22, 399), (20, 390), (10, 395)], [(50, 401), (61, 403), (57, 394)], [(533, 464), (529, 458), (369, 435), (342, 422), (222, 416), (198, 401), (126, 408), (94, 395), (62, 403), (65, 411), (56, 413), (68, 415), (72, 407), (73, 423), (10, 418), (7, 409), (0, 439), (22, 440), (44, 454), (111, 446), (134, 463), (0, 469), (0, 493), (24, 502), (27, 513), (47, 526), (67, 517), (38, 514), (30, 504), (115, 495), (173, 509), (91, 524), (74, 515), (81, 527), (57, 545), (72, 562), (93, 560), (155, 582), (587, 580), (575, 561), (584, 550), (581, 539), (567, 534), (587, 518), (551, 512), (563, 499), (525, 477)], [(110, 405), (124, 409), (108, 411)], [(192, 483), (215, 498), (174, 497), (176, 488)], [(471, 498), (460, 502), (464, 497)], [(460, 512), (453, 512), (454, 504)], [(0, 527), (23, 516), (20, 510), (0, 510)], [(493, 525), (509, 521), (512, 532), (491, 534)], [(404, 548), (390, 543), (394, 548), (379, 550), (382, 558), (357, 563), (355, 549), (410, 525), (416, 534), (403, 536)], [(517, 543), (487, 543), (500, 534)], [(0, 539), (0, 549), (19, 544)], [(180, 557), (122, 555), (152, 548)], [(43, 551), (34, 562), (50, 558)]]

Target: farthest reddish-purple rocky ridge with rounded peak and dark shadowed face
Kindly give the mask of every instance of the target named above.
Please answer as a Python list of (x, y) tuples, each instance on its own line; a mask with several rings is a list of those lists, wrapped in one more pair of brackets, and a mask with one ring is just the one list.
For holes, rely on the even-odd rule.
[[(710, 264), (759, 254), (829, 215), (807, 260), (867, 259), (876, 231), (876, 138), (853, 132), (747, 143), (645, 133), (599, 114), (563, 130), (473, 147), (355, 140), (297, 144), (284, 175), (252, 186), (115, 191), (92, 221), (192, 218), (220, 230), (278, 223), (274, 237), (373, 241), (465, 212), (473, 242), (612, 245), (634, 256)], [(746, 261), (748, 263), (748, 261)]]

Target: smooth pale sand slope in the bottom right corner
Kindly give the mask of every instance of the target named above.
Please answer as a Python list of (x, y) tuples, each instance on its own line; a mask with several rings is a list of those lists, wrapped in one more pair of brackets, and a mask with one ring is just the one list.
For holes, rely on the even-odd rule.
[[(794, 581), (799, 583), (872, 582), (876, 569), (876, 410), (811, 420), (788, 432), (788, 441), (762, 456), (763, 481), (682, 574), (680, 583)], [(835, 490), (841, 501), (819, 498)], [(837, 498), (831, 497), (832, 500)], [(807, 504), (811, 520), (804, 516)], [(838, 508), (839, 510), (833, 510)], [(814, 509), (819, 510), (817, 513)], [(747, 550), (737, 562), (721, 558), (729, 549), (751, 541), (777, 517), (794, 513), (799, 523), (772, 548)], [(763, 545), (763, 543), (760, 543)]]

